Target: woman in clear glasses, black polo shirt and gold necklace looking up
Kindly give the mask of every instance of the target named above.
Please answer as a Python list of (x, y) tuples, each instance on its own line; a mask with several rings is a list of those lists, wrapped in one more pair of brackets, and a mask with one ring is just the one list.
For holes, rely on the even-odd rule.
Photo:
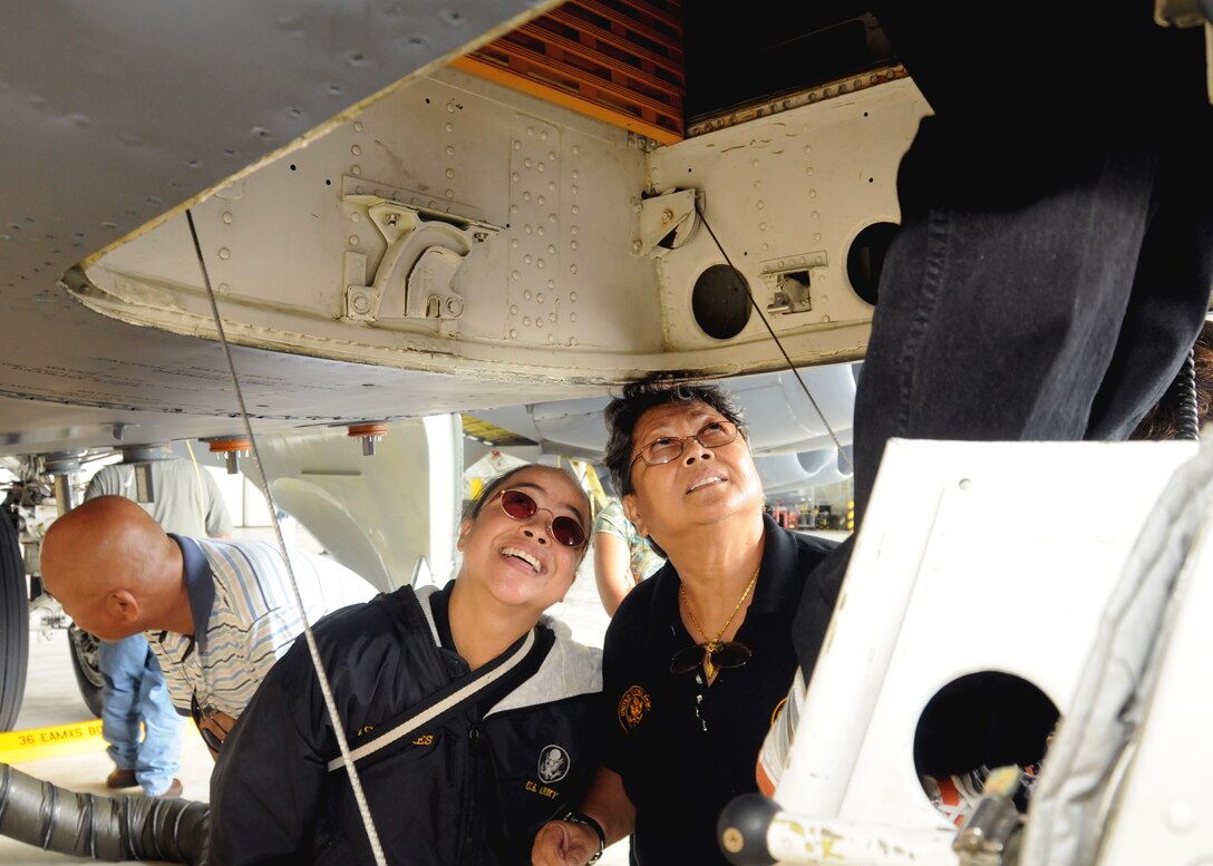
[(721, 388), (630, 384), (606, 428), (623, 509), (668, 562), (610, 622), (603, 767), (573, 820), (540, 831), (533, 861), (581, 866), (631, 834), (640, 866), (728, 864), (717, 817), (757, 790), (758, 752), (797, 670), (802, 592), (824, 617), (833, 608), (838, 587), (810, 579), (833, 545), (763, 514), (741, 412)]

